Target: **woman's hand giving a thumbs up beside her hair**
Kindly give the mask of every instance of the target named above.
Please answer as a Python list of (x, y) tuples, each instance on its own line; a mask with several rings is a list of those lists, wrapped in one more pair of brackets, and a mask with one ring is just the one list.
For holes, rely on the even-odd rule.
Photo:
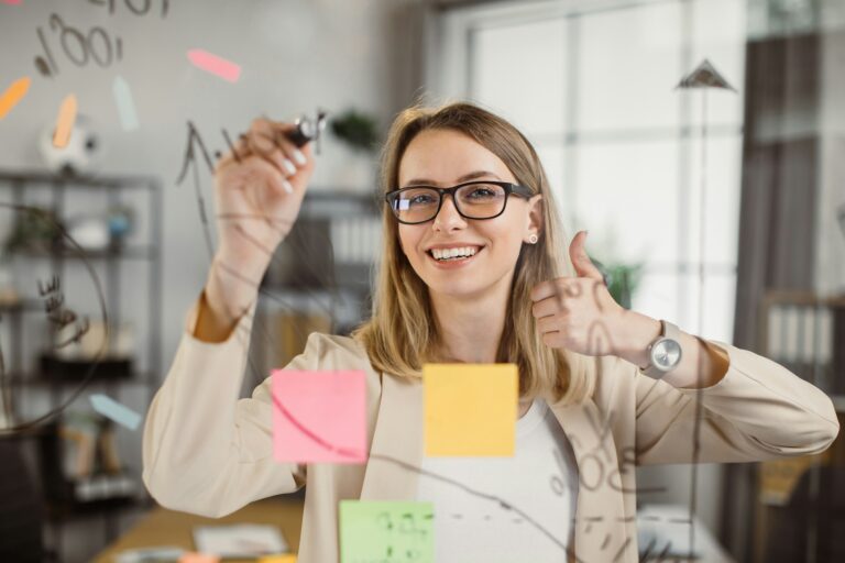
[(622, 328), (625, 309), (614, 301), (586, 255), (585, 240), (586, 231), (581, 231), (569, 246), (578, 276), (537, 285), (530, 294), (531, 311), (546, 345), (590, 356), (616, 355), (614, 334)]

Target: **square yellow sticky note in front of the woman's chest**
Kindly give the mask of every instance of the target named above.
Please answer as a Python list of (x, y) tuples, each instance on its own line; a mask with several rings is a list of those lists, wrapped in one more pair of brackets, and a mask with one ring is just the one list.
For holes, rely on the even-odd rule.
[(426, 455), (514, 455), (515, 364), (426, 364), (422, 385)]

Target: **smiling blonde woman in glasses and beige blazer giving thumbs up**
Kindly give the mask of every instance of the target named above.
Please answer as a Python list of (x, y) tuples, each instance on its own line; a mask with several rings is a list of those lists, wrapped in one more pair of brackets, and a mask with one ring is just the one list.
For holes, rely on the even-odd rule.
[[(218, 164), (219, 250), (144, 433), (163, 505), (221, 516), (308, 483), (300, 563), (337, 561), (338, 501), (358, 498), (434, 501), (438, 561), (633, 562), (635, 464), (804, 455), (836, 437), (830, 399), (780, 365), (615, 303), (586, 233), (564, 245), (530, 143), (454, 103), (391, 129), (372, 319), (352, 338), (311, 334), (288, 366), (365, 371), (370, 459), (275, 462), (268, 383), (237, 397), (257, 282), (314, 169), (289, 128), (255, 121)], [(518, 366), (513, 460), (422, 455), (432, 362)]]

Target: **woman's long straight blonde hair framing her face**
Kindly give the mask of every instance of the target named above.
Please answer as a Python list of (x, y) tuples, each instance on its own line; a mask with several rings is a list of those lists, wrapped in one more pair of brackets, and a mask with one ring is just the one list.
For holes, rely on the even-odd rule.
[[(542, 231), (537, 244), (523, 246), (517, 258), (506, 322), (496, 362), (515, 363), (525, 398), (545, 397), (555, 404), (581, 402), (593, 394), (594, 376), (583, 356), (542, 343), (531, 314), (530, 290), (539, 283), (574, 275), (567, 240), (546, 173), (531, 144), (504, 119), (465, 102), (439, 108), (414, 106), (393, 122), (382, 151), (381, 190), (398, 186), (402, 157), (425, 130), (463, 133), (498, 156), (516, 181), (542, 195)], [(384, 241), (378, 265), (373, 316), (353, 332), (374, 368), (399, 377), (420, 377), (422, 364), (437, 361), (438, 334), (428, 287), (398, 244), (398, 223), (382, 213)]]

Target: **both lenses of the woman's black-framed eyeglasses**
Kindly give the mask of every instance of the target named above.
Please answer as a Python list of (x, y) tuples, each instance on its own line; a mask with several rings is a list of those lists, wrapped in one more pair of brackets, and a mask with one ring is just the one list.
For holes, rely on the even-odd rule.
[[(495, 184), (469, 184), (454, 191), (458, 211), (469, 219), (489, 219), (502, 212), (507, 192)], [(437, 214), (440, 192), (431, 188), (410, 188), (397, 194), (393, 211), (400, 221), (421, 223)]]

